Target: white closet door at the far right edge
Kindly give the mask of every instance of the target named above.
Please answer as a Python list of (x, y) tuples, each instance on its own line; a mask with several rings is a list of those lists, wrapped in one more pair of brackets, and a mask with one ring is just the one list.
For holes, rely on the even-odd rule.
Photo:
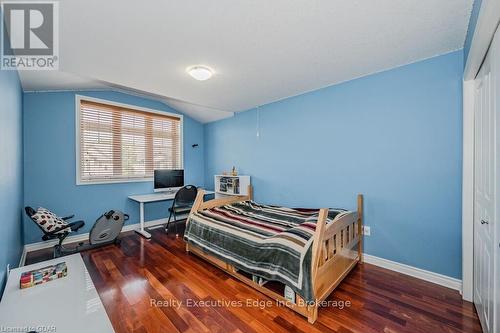
[(496, 332), (495, 257), (498, 246), (495, 239), (495, 205), (498, 185), (495, 88), (498, 75), (493, 62), (497, 55), (495, 47), (490, 48), (476, 78), (474, 98), (474, 304), (485, 333)]

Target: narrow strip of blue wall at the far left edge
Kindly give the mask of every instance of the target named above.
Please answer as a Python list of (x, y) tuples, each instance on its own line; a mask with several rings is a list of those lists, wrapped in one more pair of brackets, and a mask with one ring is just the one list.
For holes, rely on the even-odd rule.
[(17, 267), (22, 253), (22, 128), (19, 77), (16, 71), (0, 70), (0, 293), (7, 264)]

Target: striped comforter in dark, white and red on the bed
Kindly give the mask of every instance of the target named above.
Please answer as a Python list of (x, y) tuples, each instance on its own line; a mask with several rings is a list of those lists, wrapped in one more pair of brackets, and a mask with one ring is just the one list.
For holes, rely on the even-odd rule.
[[(330, 209), (327, 223), (348, 213)], [(233, 203), (189, 217), (188, 244), (267, 280), (282, 282), (314, 301), (311, 285), (311, 244), (319, 210)]]

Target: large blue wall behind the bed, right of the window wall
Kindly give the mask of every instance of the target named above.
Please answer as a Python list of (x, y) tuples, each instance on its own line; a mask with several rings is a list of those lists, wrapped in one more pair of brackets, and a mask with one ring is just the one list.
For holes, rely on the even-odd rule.
[(363, 193), (365, 252), (460, 278), (462, 74), (460, 50), (207, 124), (205, 185), (235, 165), (259, 202)]

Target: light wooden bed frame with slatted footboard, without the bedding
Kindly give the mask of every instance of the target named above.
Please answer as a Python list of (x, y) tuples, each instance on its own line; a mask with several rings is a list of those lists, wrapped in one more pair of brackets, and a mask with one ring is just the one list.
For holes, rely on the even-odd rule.
[[(252, 187), (248, 187), (248, 195), (246, 196), (218, 198), (206, 202), (203, 201), (203, 196), (203, 190), (199, 190), (190, 215), (200, 210), (251, 200)], [(209, 261), (241, 282), (307, 317), (307, 320), (312, 324), (318, 318), (318, 307), (321, 302), (330, 295), (358, 262), (363, 262), (362, 237), (359, 237), (362, 234), (363, 196), (358, 194), (357, 212), (344, 215), (329, 225), (326, 224), (327, 216), (328, 208), (320, 209), (316, 231), (313, 236), (311, 276), (314, 295), (316, 296), (316, 302), (313, 305), (306, 304), (298, 294), (296, 294), (295, 303), (290, 302), (284, 295), (259, 285), (251, 277), (249, 278), (238, 272), (233, 265), (205, 253), (197, 246), (186, 243), (186, 251)], [(189, 221), (189, 218), (187, 221)]]

